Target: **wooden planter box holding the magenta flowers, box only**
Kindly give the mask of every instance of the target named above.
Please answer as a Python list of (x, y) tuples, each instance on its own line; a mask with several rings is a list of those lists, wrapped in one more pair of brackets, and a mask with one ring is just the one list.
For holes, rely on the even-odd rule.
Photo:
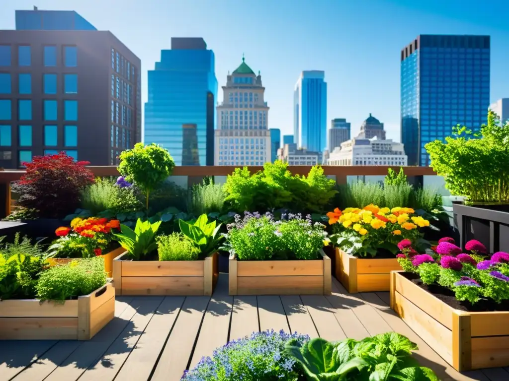
[(454, 309), (400, 274), (391, 273), (390, 306), (458, 371), (509, 366), (509, 312)]

